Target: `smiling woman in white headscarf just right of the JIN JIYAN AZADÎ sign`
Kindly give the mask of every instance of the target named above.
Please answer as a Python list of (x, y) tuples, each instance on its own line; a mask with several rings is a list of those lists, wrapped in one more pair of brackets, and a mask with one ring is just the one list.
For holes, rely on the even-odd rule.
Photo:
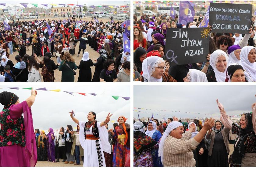
[(228, 56), (222, 50), (214, 51), (210, 56), (211, 72), (206, 77), (208, 82), (225, 82)]

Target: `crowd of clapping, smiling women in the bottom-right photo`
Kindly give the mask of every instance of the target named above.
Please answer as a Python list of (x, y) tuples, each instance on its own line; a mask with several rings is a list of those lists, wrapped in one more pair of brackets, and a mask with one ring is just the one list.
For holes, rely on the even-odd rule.
[[(218, 102), (220, 120), (133, 121), (134, 167), (256, 166), (256, 103), (232, 122)], [(204, 122), (204, 123), (203, 123)], [(234, 151), (230, 156), (230, 144)]]

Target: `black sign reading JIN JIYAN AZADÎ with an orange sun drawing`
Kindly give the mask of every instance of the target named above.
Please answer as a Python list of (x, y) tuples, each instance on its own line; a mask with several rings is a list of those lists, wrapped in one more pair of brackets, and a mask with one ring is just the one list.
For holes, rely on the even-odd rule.
[(209, 28), (168, 28), (165, 58), (170, 66), (206, 62)]

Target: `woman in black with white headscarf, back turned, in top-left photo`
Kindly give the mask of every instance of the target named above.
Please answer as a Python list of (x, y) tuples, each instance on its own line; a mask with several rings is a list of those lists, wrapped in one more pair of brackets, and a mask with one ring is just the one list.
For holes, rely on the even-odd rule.
[(77, 82), (91, 82), (91, 66), (93, 66), (93, 63), (89, 58), (89, 53), (84, 52), (79, 66), (76, 66), (79, 69), (79, 77)]

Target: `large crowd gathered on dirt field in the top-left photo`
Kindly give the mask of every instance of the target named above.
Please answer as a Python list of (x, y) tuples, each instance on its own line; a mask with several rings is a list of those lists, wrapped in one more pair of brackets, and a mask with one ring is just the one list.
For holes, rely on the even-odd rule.
[[(9, 26), (5, 30), (1, 23), (0, 28), (0, 82), (54, 82), (56, 69), (62, 72), (62, 82), (73, 82), (77, 69), (78, 82), (130, 82), (130, 53), (123, 52), (123, 21), (69, 17), (13, 21)], [(94, 61), (86, 51), (88, 46), (98, 53)], [(19, 55), (12, 56), (16, 50)], [(57, 64), (51, 59), (55, 56)], [(82, 56), (79, 65), (75, 56)]]

